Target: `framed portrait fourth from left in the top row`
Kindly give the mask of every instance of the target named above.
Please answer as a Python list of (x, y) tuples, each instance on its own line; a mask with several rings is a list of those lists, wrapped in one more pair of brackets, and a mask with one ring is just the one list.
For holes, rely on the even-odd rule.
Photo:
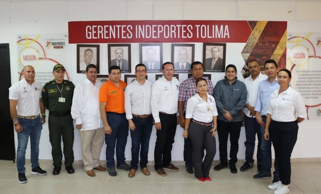
[(171, 62), (174, 64), (174, 72), (190, 72), (194, 53), (195, 44), (172, 44)]

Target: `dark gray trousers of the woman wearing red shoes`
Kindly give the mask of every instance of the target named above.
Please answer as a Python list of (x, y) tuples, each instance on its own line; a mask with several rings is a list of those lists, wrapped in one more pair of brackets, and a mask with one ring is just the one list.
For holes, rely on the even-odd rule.
[[(212, 126), (204, 126), (193, 121), (188, 127), (188, 136), (193, 145), (193, 165), (196, 178), (209, 177), (210, 169), (216, 153), (216, 141), (210, 130)], [(203, 162), (204, 148), (206, 155)], [(203, 154), (202, 154), (203, 152)]]

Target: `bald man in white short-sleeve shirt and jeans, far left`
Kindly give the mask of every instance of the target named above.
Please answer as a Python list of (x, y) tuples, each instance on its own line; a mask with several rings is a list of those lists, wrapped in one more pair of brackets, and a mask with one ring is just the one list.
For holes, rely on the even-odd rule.
[[(25, 176), (26, 149), (30, 136), (31, 174), (46, 175), (39, 167), (39, 141), (42, 124), (45, 123), (45, 106), (41, 98), (41, 84), (34, 80), (35, 69), (28, 65), (22, 70), (23, 79), (9, 88), (10, 115), (17, 132), (17, 169), (20, 183), (27, 182)], [(40, 116), (41, 111), (41, 116)]]

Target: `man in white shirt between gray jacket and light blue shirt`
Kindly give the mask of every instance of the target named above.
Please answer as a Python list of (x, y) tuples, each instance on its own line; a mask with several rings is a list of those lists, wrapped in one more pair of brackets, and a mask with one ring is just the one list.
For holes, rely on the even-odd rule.
[(257, 89), (261, 81), (267, 79), (267, 76), (261, 74), (260, 65), (258, 61), (251, 60), (247, 63), (248, 71), (250, 76), (244, 80), (247, 89), (247, 102), (245, 104), (244, 112), (244, 125), (245, 125), (245, 159), (246, 162), (240, 168), (240, 171), (244, 172), (253, 167), (253, 153), (255, 147), (255, 135), (257, 134), (258, 144), (257, 144), (257, 167), (260, 170), (261, 166), (261, 126), (257, 123), (255, 118), (254, 107), (256, 105)]

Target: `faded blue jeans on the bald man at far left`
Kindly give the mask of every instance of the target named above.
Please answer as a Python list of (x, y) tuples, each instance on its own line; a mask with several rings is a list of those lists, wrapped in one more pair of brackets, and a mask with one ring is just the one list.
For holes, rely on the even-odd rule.
[(26, 173), (24, 167), (26, 163), (26, 149), (28, 139), (30, 136), (30, 149), (31, 149), (31, 167), (38, 167), (39, 163), (39, 141), (41, 135), (41, 117), (37, 119), (22, 119), (18, 118), (19, 124), (22, 127), (22, 131), (17, 133), (18, 136), (18, 148), (17, 148), (17, 169), (18, 173)]

